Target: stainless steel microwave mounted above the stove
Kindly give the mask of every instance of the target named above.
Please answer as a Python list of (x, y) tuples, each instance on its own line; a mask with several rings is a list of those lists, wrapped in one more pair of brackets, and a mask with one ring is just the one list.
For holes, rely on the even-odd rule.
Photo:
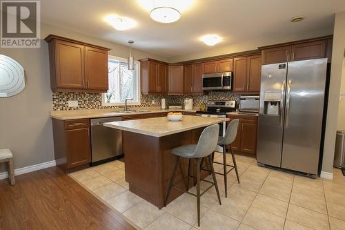
[(208, 73), (202, 75), (203, 90), (231, 90), (233, 72)]

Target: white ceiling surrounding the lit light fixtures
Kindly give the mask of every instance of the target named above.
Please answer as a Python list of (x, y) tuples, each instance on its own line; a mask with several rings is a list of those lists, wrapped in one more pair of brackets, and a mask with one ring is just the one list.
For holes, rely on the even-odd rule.
[[(141, 0), (142, 1), (142, 0)], [(152, 0), (148, 0), (152, 1)], [(333, 26), (335, 12), (345, 10), (344, 0), (194, 0), (177, 23), (165, 25), (150, 19), (138, 0), (42, 0), (41, 19), (61, 28), (128, 45), (162, 57), (175, 57), (209, 49), (199, 37), (216, 33), (223, 41), (214, 47), (240, 44), (263, 35), (286, 35)], [(130, 17), (137, 26), (117, 31), (103, 21), (108, 14)], [(305, 20), (289, 19), (304, 15)]]

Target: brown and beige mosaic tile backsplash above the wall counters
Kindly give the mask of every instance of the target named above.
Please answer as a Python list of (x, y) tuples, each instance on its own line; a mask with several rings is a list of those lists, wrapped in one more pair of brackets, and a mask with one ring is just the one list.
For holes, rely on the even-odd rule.
[[(229, 91), (215, 91), (207, 95), (141, 95), (141, 105), (130, 107), (161, 106), (161, 98), (166, 98), (167, 104), (183, 104), (185, 98), (193, 98), (193, 106), (200, 106), (201, 102), (209, 99), (239, 100), (239, 95)], [(68, 107), (68, 101), (77, 100), (78, 107)], [(52, 93), (52, 109), (54, 111), (69, 111), (92, 108), (119, 108), (123, 106), (102, 106), (101, 93)]]

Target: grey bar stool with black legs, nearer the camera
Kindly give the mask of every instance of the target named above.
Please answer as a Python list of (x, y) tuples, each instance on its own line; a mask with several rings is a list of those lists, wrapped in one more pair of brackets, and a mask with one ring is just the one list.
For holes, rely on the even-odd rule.
[[(170, 192), (172, 188), (175, 188), (179, 191), (182, 191), (184, 193), (188, 193), (190, 195), (194, 195), (197, 197), (197, 224), (200, 227), (200, 197), (201, 195), (204, 195), (206, 191), (208, 191), (212, 186), (215, 186), (215, 189), (217, 191), (217, 196), (219, 200), (219, 204), (221, 204), (220, 200), (220, 195), (219, 195), (219, 190), (218, 190), (218, 185), (217, 185), (217, 179), (215, 177), (215, 170), (213, 169), (213, 163), (212, 163), (212, 153), (214, 153), (215, 148), (217, 147), (217, 138), (218, 138), (218, 133), (219, 133), (219, 124), (213, 124), (211, 126), (208, 126), (202, 131), (199, 141), (197, 144), (186, 144), (183, 146), (179, 146), (177, 148), (173, 148), (171, 153), (174, 155), (177, 155), (177, 160), (175, 163), (174, 171), (172, 173), (172, 178), (170, 180), (170, 185), (168, 188), (168, 193), (166, 195), (166, 200), (164, 202), (164, 207), (166, 207), (166, 202), (168, 202), (168, 198), (170, 196)], [(187, 191), (183, 191), (174, 185), (179, 183), (181, 180), (176, 182), (174, 184), (176, 172), (177, 172), (177, 167), (179, 166), (179, 161), (181, 157), (188, 158), (188, 175), (181, 180), (185, 180), (188, 178), (187, 182)], [(204, 180), (205, 182), (210, 183), (211, 185), (206, 189), (203, 193), (200, 194), (200, 162), (203, 157), (208, 157), (208, 162), (210, 165), (210, 171), (213, 175), (213, 182), (210, 182), (208, 180)], [(188, 191), (188, 186), (189, 186), (189, 178), (195, 178), (194, 176), (190, 175), (190, 160), (195, 159), (196, 161), (196, 179), (197, 179), (197, 194), (195, 195), (194, 193), (190, 193)]]

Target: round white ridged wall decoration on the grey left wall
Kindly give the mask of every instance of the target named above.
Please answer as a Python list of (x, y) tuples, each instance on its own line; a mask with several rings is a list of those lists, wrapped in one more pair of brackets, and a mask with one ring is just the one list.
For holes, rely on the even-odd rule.
[(10, 57), (0, 55), (0, 97), (17, 95), (24, 87), (23, 66)]

